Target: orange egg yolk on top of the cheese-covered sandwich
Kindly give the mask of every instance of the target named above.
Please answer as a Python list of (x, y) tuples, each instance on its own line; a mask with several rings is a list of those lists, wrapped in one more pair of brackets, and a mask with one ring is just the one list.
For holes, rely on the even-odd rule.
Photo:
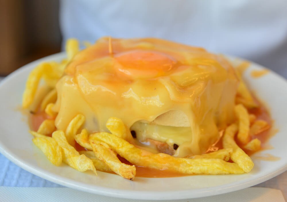
[(120, 65), (116, 70), (126, 76), (151, 78), (164, 75), (172, 69), (175, 59), (156, 51), (134, 50), (115, 55)]

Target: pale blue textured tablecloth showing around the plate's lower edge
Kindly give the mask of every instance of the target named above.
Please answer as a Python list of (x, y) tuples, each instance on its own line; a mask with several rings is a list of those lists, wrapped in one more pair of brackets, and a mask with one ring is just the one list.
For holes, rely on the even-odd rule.
[[(0, 77), (0, 82), (1, 82)], [(61, 185), (52, 183), (42, 179), (22, 168), (16, 166), (2, 154), (0, 154), (0, 186), (7, 187), (62, 187)], [(263, 182), (255, 187), (267, 187), (280, 189), (287, 198), (287, 171)]]

